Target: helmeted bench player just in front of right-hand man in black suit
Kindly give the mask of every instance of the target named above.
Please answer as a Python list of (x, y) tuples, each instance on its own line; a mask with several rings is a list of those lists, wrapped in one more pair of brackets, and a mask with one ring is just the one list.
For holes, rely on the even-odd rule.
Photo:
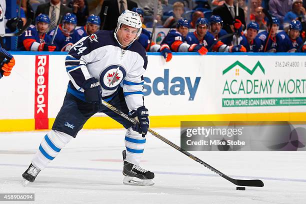
[[(209, 32), (213, 35), (215, 39), (218, 39), (219, 37), (227, 34), (227, 32), (222, 29), (223, 26), (223, 20), (221, 19), (220, 16), (218, 15), (211, 15), (210, 16), (210, 26), (209, 26)], [(224, 44), (230, 45), (230, 38), (231, 37), (226, 37), (224, 39), (221, 39)]]

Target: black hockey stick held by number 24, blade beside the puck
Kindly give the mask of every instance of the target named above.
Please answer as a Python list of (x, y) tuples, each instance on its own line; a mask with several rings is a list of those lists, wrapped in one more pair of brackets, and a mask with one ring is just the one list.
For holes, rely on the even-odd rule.
[[(102, 104), (105, 105), (106, 107), (108, 107), (109, 109), (111, 109), (112, 111), (114, 111), (115, 113), (121, 115), (122, 117), (124, 117), (125, 119), (127, 119), (128, 121), (132, 122), (133, 124), (138, 123), (135, 119), (129, 117), (127, 114), (125, 114), (124, 112), (120, 111), (119, 109), (117, 109), (116, 107), (112, 106), (111, 104), (109, 104), (108, 102), (105, 102), (104, 100), (102, 100)], [(263, 186), (263, 182), (261, 180), (240, 180), (240, 179), (234, 179), (231, 178), (227, 175), (225, 175), (224, 173), (220, 172), (219, 170), (215, 169), (214, 167), (212, 167), (211, 165), (209, 165), (208, 163), (202, 161), (201, 159), (197, 158), (196, 156), (192, 155), (191, 153), (189, 153), (188, 151), (180, 148), (179, 146), (177, 146), (176, 144), (172, 143), (171, 141), (169, 141), (168, 139), (164, 138), (163, 136), (161, 136), (160, 134), (158, 134), (157, 132), (151, 130), (150, 128), (148, 128), (148, 132), (150, 132), (151, 134), (153, 134), (154, 136), (156, 136), (158, 139), (164, 141), (165, 143), (169, 144), (170, 146), (172, 146), (173, 148), (177, 149), (178, 151), (182, 152), (183, 154), (189, 156), (190, 158), (192, 158), (193, 160), (195, 160), (196, 162), (202, 164), (203, 166), (205, 166), (206, 168), (208, 168), (209, 170), (211, 170), (212, 172), (222, 176), (223, 178), (225, 178), (226, 180), (232, 182), (235, 185), (241, 185), (241, 186), (254, 186), (254, 187), (262, 187)]]

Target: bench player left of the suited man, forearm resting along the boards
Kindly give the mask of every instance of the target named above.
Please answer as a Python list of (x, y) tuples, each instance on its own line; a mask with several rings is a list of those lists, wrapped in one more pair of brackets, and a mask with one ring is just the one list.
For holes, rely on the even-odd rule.
[[(212, 47), (213, 51), (219, 51), (219, 52), (240, 52), (245, 51), (245, 48), (241, 45), (235, 45), (235, 46), (227, 46), (221, 41), (216, 41), (213, 35), (210, 32), (207, 32), (208, 30), (208, 21), (201, 17), (196, 20), (195, 25), (195, 31), (194, 32), (188, 32), (186, 36), (186, 41), (188, 44), (202, 44), (207, 49), (210, 46)], [(214, 43), (214, 45), (213, 45)]]

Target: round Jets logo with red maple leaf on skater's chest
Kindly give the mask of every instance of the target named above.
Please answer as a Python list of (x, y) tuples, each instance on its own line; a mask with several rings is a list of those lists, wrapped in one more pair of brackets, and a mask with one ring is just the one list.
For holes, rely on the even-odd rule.
[(106, 67), (100, 74), (100, 84), (106, 90), (114, 90), (125, 77), (125, 69), (117, 64)]

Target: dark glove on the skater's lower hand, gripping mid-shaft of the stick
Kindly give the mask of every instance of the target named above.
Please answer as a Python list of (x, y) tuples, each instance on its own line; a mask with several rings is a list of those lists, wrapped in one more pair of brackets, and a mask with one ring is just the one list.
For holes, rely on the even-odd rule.
[(149, 124), (148, 110), (143, 105), (136, 110), (130, 111), (128, 115), (139, 122), (131, 126), (132, 130), (142, 134), (142, 137), (145, 137)]

